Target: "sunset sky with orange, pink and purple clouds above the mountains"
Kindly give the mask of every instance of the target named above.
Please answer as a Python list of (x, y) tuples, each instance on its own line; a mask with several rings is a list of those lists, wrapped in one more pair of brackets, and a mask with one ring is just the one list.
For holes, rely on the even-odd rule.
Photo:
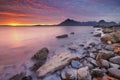
[(120, 22), (120, 0), (0, 0), (0, 24), (58, 24), (77, 21)]

